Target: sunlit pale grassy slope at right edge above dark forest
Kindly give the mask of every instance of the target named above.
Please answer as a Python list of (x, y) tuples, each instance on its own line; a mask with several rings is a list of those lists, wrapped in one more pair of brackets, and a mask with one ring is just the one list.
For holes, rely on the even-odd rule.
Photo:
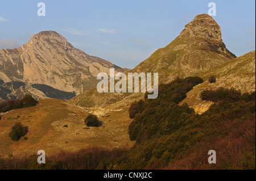
[[(208, 78), (211, 75), (216, 75), (216, 82), (209, 83)], [(205, 89), (233, 87), (242, 92), (253, 92), (255, 91), (255, 50), (205, 71), (199, 74), (199, 77), (202, 77), (205, 82), (193, 87), (193, 90), (187, 93), (187, 98), (181, 102), (193, 107), (197, 113), (205, 112), (212, 104), (200, 99), (200, 92)]]

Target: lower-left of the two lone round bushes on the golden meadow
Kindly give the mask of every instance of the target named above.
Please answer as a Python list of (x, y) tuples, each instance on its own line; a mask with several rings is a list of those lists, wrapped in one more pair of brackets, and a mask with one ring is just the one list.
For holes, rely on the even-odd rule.
[(13, 141), (19, 141), (19, 138), (25, 136), (28, 132), (28, 127), (24, 127), (20, 122), (16, 123), (12, 128), (9, 136)]

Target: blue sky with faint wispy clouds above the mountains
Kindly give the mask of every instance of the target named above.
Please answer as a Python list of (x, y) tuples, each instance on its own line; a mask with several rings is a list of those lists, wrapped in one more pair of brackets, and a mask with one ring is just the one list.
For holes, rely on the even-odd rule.
[[(38, 16), (38, 3), (46, 16)], [(214, 20), (226, 47), (241, 56), (255, 50), (255, 1), (0, 0), (0, 49), (18, 48), (40, 31), (53, 30), (92, 56), (133, 69), (166, 47), (198, 14), (216, 3)]]

